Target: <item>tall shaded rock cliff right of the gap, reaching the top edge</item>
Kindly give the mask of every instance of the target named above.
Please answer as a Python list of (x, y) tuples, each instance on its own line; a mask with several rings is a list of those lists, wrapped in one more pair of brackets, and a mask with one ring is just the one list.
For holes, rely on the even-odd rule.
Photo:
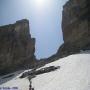
[(90, 49), (90, 1), (69, 0), (63, 6), (62, 32), (64, 44), (58, 56)]

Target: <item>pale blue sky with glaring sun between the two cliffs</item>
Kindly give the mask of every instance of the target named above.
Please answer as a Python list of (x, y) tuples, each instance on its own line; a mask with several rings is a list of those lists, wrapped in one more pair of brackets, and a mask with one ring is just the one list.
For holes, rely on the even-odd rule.
[[(40, 1), (40, 0), (39, 0)], [(29, 19), (38, 59), (55, 54), (63, 43), (62, 6), (66, 0), (0, 0), (0, 26)]]

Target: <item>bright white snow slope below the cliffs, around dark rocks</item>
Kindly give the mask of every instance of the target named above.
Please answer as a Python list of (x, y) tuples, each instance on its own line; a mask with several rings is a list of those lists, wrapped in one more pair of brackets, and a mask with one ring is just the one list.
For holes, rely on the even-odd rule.
[[(60, 66), (60, 69), (33, 78), (34, 90), (90, 90), (90, 54), (70, 55), (44, 67), (48, 66)], [(17, 86), (18, 90), (29, 90), (28, 79), (18, 77), (0, 87)]]

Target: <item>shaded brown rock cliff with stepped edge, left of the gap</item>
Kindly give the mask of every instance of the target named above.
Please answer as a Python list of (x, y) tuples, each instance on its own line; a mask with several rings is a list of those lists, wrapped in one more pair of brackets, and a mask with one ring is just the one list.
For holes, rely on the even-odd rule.
[(35, 62), (35, 39), (26, 19), (0, 27), (0, 74), (27, 68)]

